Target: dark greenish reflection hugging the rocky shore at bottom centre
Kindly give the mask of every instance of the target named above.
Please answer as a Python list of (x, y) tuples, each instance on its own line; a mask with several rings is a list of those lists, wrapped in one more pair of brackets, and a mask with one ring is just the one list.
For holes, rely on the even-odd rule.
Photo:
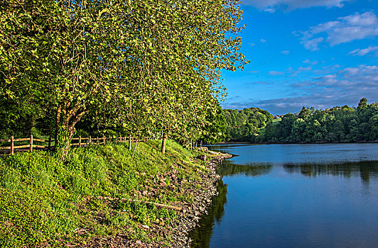
[(220, 222), (225, 214), (225, 204), (227, 203), (227, 184), (223, 184), (223, 181), (219, 181), (217, 184), (218, 196), (212, 198), (210, 209), (208, 209), (208, 215), (202, 216), (198, 227), (190, 232), (189, 237), (193, 240), (192, 247), (205, 248), (210, 246), (210, 237), (215, 222)]

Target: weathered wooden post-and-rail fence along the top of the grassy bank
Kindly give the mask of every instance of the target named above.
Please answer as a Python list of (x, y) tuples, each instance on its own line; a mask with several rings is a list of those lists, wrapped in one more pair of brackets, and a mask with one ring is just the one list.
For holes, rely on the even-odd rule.
[[(145, 141), (147, 139), (144, 139)], [(25, 142), (28, 141), (28, 145), (15, 145), (15, 142)], [(14, 154), (14, 152), (25, 152), (29, 151), (31, 152), (33, 148), (39, 148), (39, 149), (51, 149), (51, 142), (54, 142), (55, 140), (41, 140), (41, 139), (36, 139), (31, 135), (30, 137), (26, 138), (18, 138), (15, 139), (13, 136), (11, 137), (10, 140), (0, 140), (0, 142), (10, 142), (11, 145), (9, 147), (0, 147), (0, 153), (10, 153)], [(86, 147), (87, 145), (105, 145), (108, 142), (126, 142), (128, 141), (129, 144), (131, 142), (139, 142), (142, 140), (133, 140), (132, 137), (129, 139), (126, 139), (126, 137), (74, 137), (71, 140), (71, 147)], [(35, 142), (48, 142), (48, 147), (45, 147), (44, 145), (36, 145)], [(26, 149), (27, 148), (27, 149)], [(130, 148), (130, 147), (129, 147)]]

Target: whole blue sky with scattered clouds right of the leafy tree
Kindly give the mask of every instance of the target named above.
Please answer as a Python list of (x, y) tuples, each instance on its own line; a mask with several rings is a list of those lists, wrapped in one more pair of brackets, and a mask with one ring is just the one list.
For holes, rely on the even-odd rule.
[(272, 114), (378, 101), (378, 0), (242, 0), (243, 71), (224, 108)]

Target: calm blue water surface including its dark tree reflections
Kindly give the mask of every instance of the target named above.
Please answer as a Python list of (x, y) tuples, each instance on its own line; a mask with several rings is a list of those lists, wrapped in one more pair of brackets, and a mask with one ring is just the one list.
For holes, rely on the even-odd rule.
[(192, 247), (378, 247), (378, 144), (209, 148), (237, 157)]

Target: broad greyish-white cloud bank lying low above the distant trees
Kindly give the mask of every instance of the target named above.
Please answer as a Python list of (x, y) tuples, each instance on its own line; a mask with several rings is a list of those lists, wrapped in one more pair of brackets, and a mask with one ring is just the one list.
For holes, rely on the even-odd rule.
[[(306, 70), (306, 68), (310, 69), (310, 67), (300, 67), (298, 70)], [(293, 69), (289, 67), (285, 72), (291, 70)], [(275, 83), (277, 86), (280, 85), (281, 79), (276, 78), (276, 82), (269, 84)], [(301, 111), (302, 106), (322, 109), (345, 104), (357, 106), (362, 97), (366, 97), (369, 103), (376, 102), (378, 101), (378, 66), (361, 64), (357, 67), (340, 68), (335, 65), (323, 69), (320, 77), (312, 74), (307, 80), (299, 79), (288, 86), (291, 93), (286, 98), (249, 99), (248, 102), (239, 103), (235, 101), (232, 103), (233, 108), (257, 106), (275, 115)]]

